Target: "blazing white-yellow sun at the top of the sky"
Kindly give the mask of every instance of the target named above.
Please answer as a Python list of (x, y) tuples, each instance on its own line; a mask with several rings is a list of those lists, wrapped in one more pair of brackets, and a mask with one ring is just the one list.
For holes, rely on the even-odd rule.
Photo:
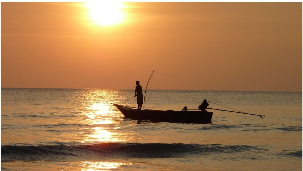
[(92, 0), (85, 3), (91, 19), (97, 25), (108, 26), (123, 22), (122, 2), (115, 0)]

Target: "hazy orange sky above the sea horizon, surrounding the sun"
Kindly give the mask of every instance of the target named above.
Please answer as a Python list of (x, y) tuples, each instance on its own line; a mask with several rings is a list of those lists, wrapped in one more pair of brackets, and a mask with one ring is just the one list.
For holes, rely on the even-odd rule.
[(1, 87), (302, 91), (301, 2), (123, 5), (1, 2)]

